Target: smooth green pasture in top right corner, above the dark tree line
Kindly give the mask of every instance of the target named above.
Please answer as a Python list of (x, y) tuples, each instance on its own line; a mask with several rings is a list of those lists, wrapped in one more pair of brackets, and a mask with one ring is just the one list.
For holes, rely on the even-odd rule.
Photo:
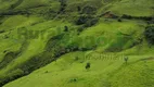
[[(152, 9), (153, 3), (153, 0), (120, 0), (105, 5), (105, 10), (118, 15), (152, 16), (154, 14), (154, 10)], [(105, 11), (104, 8), (102, 9)]]

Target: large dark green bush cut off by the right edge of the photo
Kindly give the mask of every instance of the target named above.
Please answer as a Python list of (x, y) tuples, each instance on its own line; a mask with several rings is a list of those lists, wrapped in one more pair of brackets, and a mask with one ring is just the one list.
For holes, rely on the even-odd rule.
[(154, 45), (154, 26), (147, 26), (145, 28), (144, 36), (149, 44)]

